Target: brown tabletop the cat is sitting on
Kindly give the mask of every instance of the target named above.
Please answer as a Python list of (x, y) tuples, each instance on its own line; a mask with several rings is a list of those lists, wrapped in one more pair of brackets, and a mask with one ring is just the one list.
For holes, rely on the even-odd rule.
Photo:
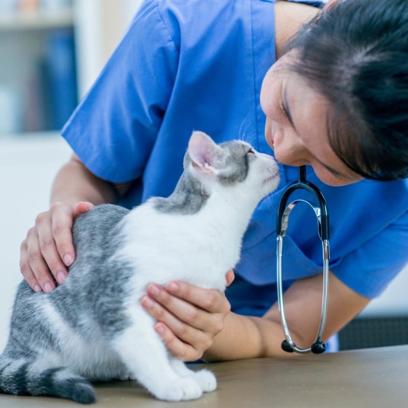
[[(216, 391), (186, 402), (151, 397), (134, 381), (95, 386), (95, 408), (386, 407), (408, 406), (408, 345), (340, 351), (295, 358), (241, 360), (206, 365)], [(195, 367), (195, 366), (193, 366)], [(1, 408), (79, 406), (50, 397), (0, 395)]]

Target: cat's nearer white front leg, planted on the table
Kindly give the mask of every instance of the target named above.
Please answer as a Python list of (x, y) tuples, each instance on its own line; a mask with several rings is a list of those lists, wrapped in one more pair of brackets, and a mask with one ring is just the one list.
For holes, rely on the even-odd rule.
[(138, 313), (138, 321), (116, 335), (113, 348), (147, 390), (159, 399), (181, 401), (199, 398), (202, 389), (192, 377), (181, 376), (170, 364), (169, 353), (151, 319)]

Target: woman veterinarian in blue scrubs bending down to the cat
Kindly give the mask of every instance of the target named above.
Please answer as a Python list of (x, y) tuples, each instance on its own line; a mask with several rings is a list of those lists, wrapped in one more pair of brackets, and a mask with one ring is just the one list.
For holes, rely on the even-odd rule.
[[(183, 360), (282, 355), (276, 208), (296, 166), (308, 165), (330, 212), (323, 340), (335, 350), (333, 336), (408, 261), (408, 5), (331, 1), (321, 13), (316, 6), (146, 0), (62, 131), (72, 158), (56, 176), (50, 209), (21, 244), (30, 286), (49, 292), (64, 281), (78, 214), (167, 196), (192, 130), (217, 142), (243, 138), (274, 154), (281, 184), (254, 213), (241, 262), (226, 271), (226, 293), (152, 282), (140, 301)], [(322, 286), (310, 209), (291, 215), (283, 264), (291, 334), (308, 347)]]

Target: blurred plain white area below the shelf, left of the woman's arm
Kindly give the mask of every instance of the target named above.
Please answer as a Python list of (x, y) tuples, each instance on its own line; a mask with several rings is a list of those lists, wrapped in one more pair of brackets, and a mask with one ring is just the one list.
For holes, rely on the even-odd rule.
[(20, 243), (49, 208), (49, 191), (70, 149), (57, 135), (0, 136), (0, 350), (6, 344), (15, 288), (21, 281)]

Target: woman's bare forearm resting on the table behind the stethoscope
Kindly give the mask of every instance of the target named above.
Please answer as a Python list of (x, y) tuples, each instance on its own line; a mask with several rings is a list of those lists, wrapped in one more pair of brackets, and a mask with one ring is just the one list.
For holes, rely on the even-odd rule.
[[(323, 341), (338, 333), (370, 301), (347, 287), (333, 272), (329, 273), (329, 288)], [(316, 339), (320, 325), (321, 297), (321, 275), (299, 279), (285, 292), (285, 314), (290, 334), (301, 348), (310, 347)], [(281, 348), (284, 339), (275, 302), (262, 318), (230, 312), (204, 356), (206, 361), (288, 356)]]

